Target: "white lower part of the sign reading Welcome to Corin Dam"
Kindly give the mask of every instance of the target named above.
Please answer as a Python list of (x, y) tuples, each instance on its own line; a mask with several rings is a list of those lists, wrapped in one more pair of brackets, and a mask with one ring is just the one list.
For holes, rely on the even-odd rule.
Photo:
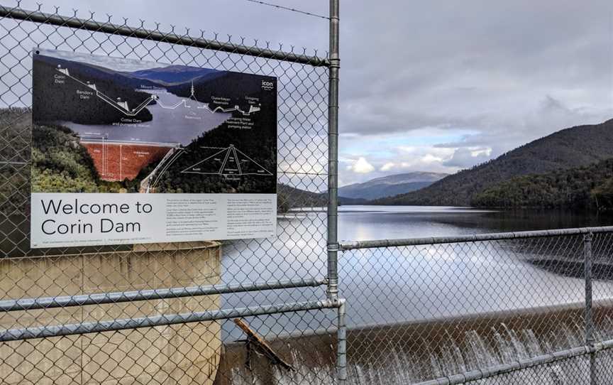
[(270, 194), (33, 193), (32, 246), (275, 236)]

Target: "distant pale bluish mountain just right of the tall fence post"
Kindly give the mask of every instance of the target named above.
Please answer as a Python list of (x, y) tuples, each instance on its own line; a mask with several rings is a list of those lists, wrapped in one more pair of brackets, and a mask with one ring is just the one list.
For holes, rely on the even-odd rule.
[(375, 178), (363, 183), (354, 183), (338, 189), (338, 195), (349, 198), (377, 199), (409, 193), (425, 188), (445, 178), (443, 173), (404, 173)]

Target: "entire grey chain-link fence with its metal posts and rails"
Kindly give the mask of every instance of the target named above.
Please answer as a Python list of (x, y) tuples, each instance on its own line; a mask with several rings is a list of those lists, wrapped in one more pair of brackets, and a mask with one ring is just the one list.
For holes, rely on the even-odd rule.
[[(324, 58), (0, 6), (2, 384), (613, 383), (612, 228), (337, 244), (330, 21)], [(277, 237), (30, 249), (35, 48), (277, 77)]]

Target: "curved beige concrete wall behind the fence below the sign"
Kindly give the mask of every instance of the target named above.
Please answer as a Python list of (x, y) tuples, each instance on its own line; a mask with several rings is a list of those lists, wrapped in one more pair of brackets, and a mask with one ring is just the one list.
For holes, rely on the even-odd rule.
[[(220, 244), (148, 244), (131, 250), (0, 260), (0, 293), (33, 298), (219, 283)], [(219, 309), (219, 295), (16, 311), (0, 330)], [(212, 384), (219, 322), (0, 344), (3, 384)]]

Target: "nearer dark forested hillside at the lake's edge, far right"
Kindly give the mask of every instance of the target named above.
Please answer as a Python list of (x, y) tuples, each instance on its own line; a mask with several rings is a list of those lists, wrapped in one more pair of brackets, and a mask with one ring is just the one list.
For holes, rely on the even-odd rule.
[(524, 175), (477, 194), (482, 207), (613, 208), (613, 158), (590, 166)]

